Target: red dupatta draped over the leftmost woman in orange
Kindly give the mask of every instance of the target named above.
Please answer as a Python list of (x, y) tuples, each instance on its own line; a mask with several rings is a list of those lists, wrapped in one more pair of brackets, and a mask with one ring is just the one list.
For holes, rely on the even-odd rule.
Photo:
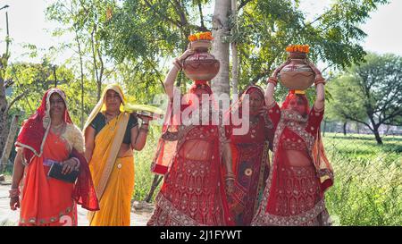
[[(72, 124), (70, 114), (67, 109), (66, 97), (63, 90), (59, 88), (50, 88), (46, 91), (37, 112), (32, 114), (28, 120), (23, 122), (21, 131), (18, 135), (15, 147), (22, 147), (23, 163), (28, 165), (34, 156), (42, 156), (43, 147), (50, 130), (50, 97), (58, 94), (63, 98), (65, 110), (63, 121)], [(80, 150), (80, 149), (79, 149)], [(89, 172), (88, 162), (77, 148), (71, 149), (71, 157), (80, 160), (80, 175), (74, 186), (73, 196), (82, 207), (96, 211), (99, 210), (99, 204), (96, 198), (95, 188), (92, 183)]]

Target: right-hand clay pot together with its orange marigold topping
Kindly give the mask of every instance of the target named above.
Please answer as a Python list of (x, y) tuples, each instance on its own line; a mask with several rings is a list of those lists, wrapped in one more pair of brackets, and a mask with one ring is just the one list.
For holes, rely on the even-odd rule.
[(310, 46), (291, 45), (286, 47), (288, 61), (281, 64), (278, 79), (290, 90), (306, 90), (314, 83), (315, 72), (307, 63)]

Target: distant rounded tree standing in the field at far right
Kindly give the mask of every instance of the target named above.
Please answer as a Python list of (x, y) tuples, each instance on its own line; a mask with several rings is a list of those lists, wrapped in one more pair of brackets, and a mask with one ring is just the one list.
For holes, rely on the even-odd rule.
[(402, 122), (402, 57), (369, 54), (330, 83), (329, 116), (362, 122), (371, 130)]

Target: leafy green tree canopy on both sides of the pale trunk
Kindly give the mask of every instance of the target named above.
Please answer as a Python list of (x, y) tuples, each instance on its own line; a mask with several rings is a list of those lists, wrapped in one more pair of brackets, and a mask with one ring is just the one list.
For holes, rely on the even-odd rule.
[[(365, 52), (359, 42), (365, 33), (359, 25), (379, 4), (386, 3), (337, 0), (310, 21), (299, 1), (239, 2), (238, 29), (227, 38), (239, 47), (239, 90), (249, 84), (264, 84), (273, 69), (286, 60), (289, 44), (309, 44), (309, 58), (333, 69), (362, 62)], [(133, 100), (146, 103), (155, 93), (163, 92), (166, 67), (187, 47), (188, 34), (211, 29), (212, 19), (205, 7), (213, 4), (212, 0), (57, 1), (48, 7), (46, 16), (63, 25), (55, 34), (70, 31), (82, 43), (86, 92), (96, 88), (92, 80), (120, 82)], [(91, 47), (96, 49), (95, 55)], [(103, 64), (109, 69), (101, 72), (105, 73), (102, 78), (96, 71)], [(288, 93), (286, 88), (278, 91), (281, 98)], [(314, 98), (313, 89), (307, 94)]]

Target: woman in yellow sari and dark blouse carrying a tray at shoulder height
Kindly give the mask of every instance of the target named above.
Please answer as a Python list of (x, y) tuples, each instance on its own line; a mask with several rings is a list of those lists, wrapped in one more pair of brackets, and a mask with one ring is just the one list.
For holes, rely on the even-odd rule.
[(133, 149), (147, 141), (149, 119), (124, 112), (125, 97), (118, 85), (108, 85), (84, 126), (85, 156), (94, 181), (100, 210), (88, 213), (89, 225), (130, 225), (134, 190)]

